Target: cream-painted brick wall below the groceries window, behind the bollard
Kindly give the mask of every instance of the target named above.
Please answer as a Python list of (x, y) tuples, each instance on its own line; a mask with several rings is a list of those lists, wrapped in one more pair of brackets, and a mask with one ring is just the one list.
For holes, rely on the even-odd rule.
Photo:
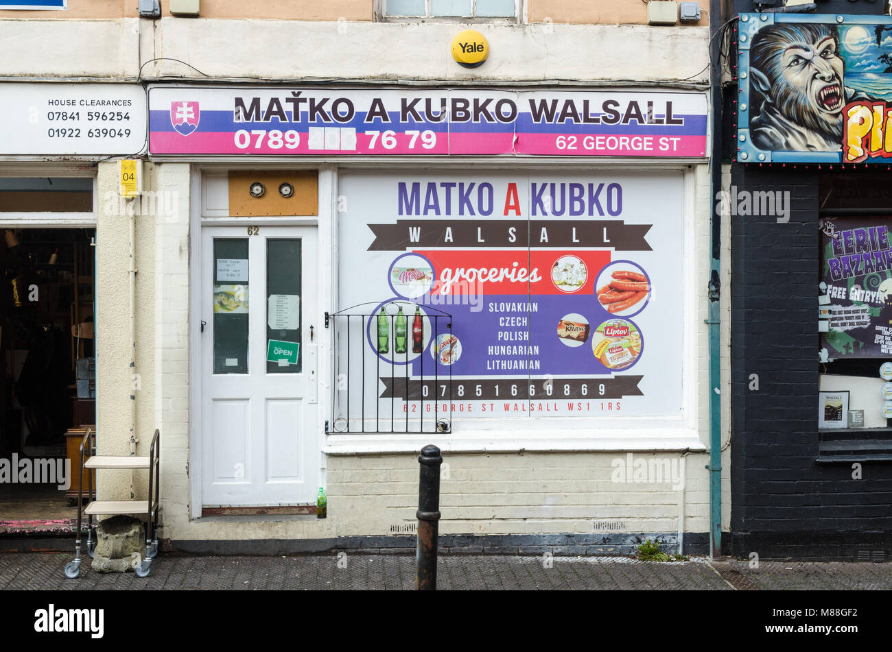
[[(636, 459), (648, 459), (640, 453)], [(658, 453), (660, 459), (677, 454)], [(594, 533), (596, 520), (622, 520), (628, 532), (675, 532), (681, 492), (669, 483), (614, 482), (624, 453), (459, 454), (441, 480), (443, 534)], [(685, 529), (708, 530), (707, 456), (690, 454)], [(414, 455), (332, 456), (328, 518), (341, 535), (388, 534), (414, 522), (418, 463)]]

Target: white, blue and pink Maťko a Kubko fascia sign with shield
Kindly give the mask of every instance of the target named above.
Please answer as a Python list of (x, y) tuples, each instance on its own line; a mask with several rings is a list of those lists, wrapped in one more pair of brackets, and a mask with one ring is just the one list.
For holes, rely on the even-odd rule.
[(153, 86), (149, 150), (698, 158), (706, 95)]

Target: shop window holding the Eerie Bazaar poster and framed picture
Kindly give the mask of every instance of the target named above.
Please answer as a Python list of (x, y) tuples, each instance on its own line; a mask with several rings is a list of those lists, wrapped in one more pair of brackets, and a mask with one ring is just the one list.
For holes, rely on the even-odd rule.
[(879, 445), (892, 430), (892, 219), (827, 216), (819, 228), (822, 441)]

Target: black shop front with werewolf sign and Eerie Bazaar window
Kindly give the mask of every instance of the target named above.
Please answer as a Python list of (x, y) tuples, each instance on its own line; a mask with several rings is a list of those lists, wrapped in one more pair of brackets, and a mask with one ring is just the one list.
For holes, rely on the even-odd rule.
[(739, 34), (731, 550), (888, 560), (892, 19)]

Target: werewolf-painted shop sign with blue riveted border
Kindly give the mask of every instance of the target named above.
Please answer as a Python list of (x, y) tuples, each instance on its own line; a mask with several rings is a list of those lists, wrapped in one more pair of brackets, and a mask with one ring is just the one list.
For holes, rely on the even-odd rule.
[(892, 163), (892, 18), (741, 13), (738, 160)]

